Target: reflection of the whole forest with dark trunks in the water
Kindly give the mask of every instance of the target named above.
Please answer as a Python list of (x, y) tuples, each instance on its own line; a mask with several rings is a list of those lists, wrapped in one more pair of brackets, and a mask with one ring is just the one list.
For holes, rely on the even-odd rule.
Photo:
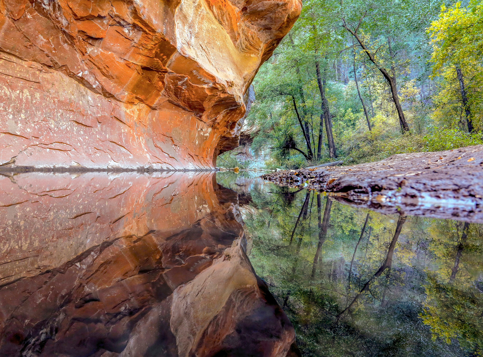
[[(475, 343), (461, 343), (462, 349), (455, 337), (446, 344), (420, 315), (444, 295), (444, 289), (431, 285), (433, 273), (446, 285), (453, 275), (452, 286), (467, 279), (465, 286), (479, 292), (481, 225), (369, 214), (316, 192), (300, 192), (289, 204), (278, 194), (271, 201), (273, 195), (258, 192), (252, 204), (263, 209), (245, 218), (254, 239), (251, 260), (256, 269), (264, 266), (262, 277), (290, 316), (304, 354), (462, 356), (463, 350), (475, 351)], [(317, 225), (311, 226), (315, 212)], [(440, 272), (443, 265), (446, 273)], [(426, 299), (428, 285), (438, 292), (438, 301)], [(470, 305), (468, 295), (457, 296)], [(482, 313), (475, 306), (473, 317)], [(469, 317), (460, 316), (458, 323)], [(481, 326), (471, 326), (473, 335), (481, 336)]]

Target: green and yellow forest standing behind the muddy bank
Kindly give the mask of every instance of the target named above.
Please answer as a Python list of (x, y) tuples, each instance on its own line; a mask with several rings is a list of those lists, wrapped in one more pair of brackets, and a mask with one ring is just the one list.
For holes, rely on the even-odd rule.
[(284, 168), (482, 144), (482, 53), (480, 1), (305, 0), (253, 82), (245, 144)]

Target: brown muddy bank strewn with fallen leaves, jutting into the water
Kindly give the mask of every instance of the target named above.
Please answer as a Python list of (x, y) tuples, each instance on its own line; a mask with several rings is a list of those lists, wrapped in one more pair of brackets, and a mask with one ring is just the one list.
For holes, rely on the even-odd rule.
[(280, 171), (262, 178), (330, 192), (381, 211), (483, 222), (483, 145), (398, 154), (353, 166)]

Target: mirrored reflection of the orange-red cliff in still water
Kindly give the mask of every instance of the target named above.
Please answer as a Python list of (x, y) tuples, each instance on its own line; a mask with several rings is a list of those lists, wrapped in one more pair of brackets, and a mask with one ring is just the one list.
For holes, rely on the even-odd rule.
[(212, 174), (0, 179), (1, 356), (293, 353)]

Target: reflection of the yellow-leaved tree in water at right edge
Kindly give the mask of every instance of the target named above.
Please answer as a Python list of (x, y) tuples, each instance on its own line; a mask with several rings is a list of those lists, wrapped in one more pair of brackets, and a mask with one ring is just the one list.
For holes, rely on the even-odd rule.
[(421, 317), (433, 338), (448, 343), (457, 340), (470, 356), (482, 356), (482, 227), (440, 222), (434, 231), (445, 233), (432, 247), (442, 263), (428, 274)]

